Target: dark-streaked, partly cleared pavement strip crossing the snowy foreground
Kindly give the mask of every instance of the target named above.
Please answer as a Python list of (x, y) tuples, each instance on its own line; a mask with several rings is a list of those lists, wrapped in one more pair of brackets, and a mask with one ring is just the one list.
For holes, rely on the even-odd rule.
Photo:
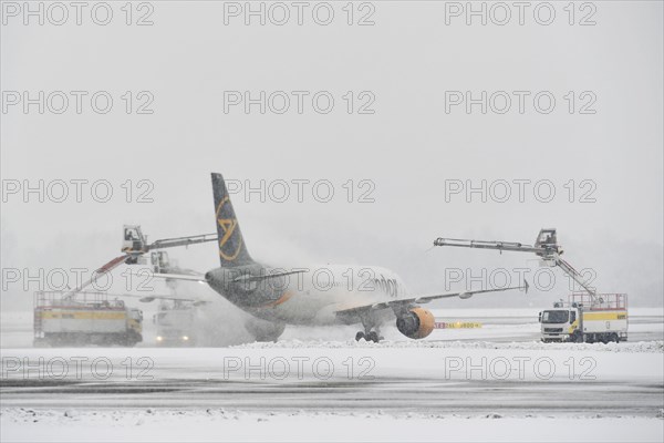
[(650, 416), (663, 408), (662, 384), (641, 382), (163, 380), (108, 383), (7, 383), (2, 406), (239, 409), (270, 413), (383, 411), (390, 413)]

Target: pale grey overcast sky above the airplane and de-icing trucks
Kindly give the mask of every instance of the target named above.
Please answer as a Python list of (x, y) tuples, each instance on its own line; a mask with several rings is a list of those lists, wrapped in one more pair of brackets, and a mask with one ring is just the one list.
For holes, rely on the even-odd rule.
[[(2, 308), (30, 309), (24, 272), (118, 255), (123, 224), (152, 239), (214, 231), (210, 172), (243, 187), (266, 181), (264, 202), (239, 192), (234, 204), (250, 253), (273, 265), (380, 265), (413, 292), (439, 292), (464, 289), (468, 269), (528, 268), (531, 279), (539, 268), (526, 255), (429, 250), (436, 237), (532, 243), (556, 227), (600, 291), (662, 306), (661, 1), (474, 2), (486, 24), (466, 2), (320, 3), (298, 24), (290, 2), (264, 2), (260, 24), (245, 2), (132, 3), (131, 17), (108, 2), (106, 25), (95, 22), (106, 7), (87, 3), (77, 25), (64, 3), (56, 25), (63, 11), (50, 2), (43, 24), (23, 2), (2, 2), (1, 259), (22, 274), (3, 274)], [(80, 203), (76, 179), (89, 181)], [(303, 202), (299, 179), (310, 181)], [(23, 194), (39, 181), (52, 194), (43, 203)], [(58, 181), (69, 184), (61, 203)], [(100, 181), (107, 203), (91, 196)], [(280, 181), (291, 192), (282, 203)], [(319, 181), (332, 184), (328, 203), (324, 186), (312, 194)], [(466, 193), (483, 181), (485, 202)], [(218, 266), (215, 245), (172, 256)], [(465, 279), (450, 282), (449, 269)], [(569, 291), (556, 275), (527, 306)], [(523, 303), (515, 293), (438, 306)]]

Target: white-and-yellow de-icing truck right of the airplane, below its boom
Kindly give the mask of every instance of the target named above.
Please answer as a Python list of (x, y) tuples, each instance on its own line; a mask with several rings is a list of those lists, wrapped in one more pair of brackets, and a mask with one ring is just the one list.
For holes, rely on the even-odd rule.
[(571, 293), (567, 302), (539, 313), (543, 342), (627, 340), (626, 293)]

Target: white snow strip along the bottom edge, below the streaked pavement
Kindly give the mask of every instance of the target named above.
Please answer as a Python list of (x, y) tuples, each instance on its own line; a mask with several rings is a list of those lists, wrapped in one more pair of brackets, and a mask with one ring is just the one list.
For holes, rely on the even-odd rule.
[(442, 415), (382, 412), (253, 413), (207, 410), (2, 411), (3, 442), (434, 441), (662, 442), (642, 418)]

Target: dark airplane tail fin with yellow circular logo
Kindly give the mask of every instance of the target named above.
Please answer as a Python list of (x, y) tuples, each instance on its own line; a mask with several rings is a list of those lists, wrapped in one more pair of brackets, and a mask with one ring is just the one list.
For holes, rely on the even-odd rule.
[(253, 259), (247, 251), (247, 245), (221, 174), (212, 173), (212, 193), (221, 267), (232, 268), (252, 264)]

